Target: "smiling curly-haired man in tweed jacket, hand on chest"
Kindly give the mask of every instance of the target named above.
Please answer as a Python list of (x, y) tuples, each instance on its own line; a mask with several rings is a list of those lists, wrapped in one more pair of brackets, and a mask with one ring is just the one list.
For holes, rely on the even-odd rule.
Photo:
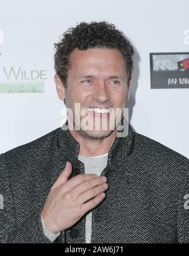
[(55, 49), (68, 118), (1, 155), (1, 243), (189, 243), (188, 159), (115, 126), (129, 99), (129, 40), (112, 24), (80, 23)]

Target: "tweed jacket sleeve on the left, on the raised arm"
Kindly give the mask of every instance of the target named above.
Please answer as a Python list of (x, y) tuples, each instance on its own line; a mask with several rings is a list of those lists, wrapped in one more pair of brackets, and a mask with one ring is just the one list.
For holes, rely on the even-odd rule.
[(9, 171), (3, 154), (0, 155), (0, 243), (51, 243), (44, 235), (40, 212), (16, 224), (13, 193)]

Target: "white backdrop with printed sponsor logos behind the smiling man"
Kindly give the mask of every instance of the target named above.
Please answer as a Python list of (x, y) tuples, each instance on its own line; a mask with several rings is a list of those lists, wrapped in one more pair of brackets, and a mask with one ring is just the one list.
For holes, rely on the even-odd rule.
[(137, 50), (129, 103), (135, 131), (189, 157), (189, 89), (152, 90), (149, 65), (149, 52), (189, 52), (188, 9), (188, 0), (0, 0), (0, 83), (8, 79), (4, 70), (18, 83), (27, 83), (35, 70), (34, 78), (42, 71), (37, 82), (45, 88), (0, 93), (0, 153), (60, 126), (64, 105), (54, 84), (54, 42), (76, 23), (106, 20)]

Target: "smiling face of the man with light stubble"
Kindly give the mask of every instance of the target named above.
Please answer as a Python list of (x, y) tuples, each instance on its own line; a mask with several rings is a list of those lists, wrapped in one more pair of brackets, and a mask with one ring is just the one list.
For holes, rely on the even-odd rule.
[[(80, 116), (81, 128), (77, 132), (81, 136), (105, 138), (115, 130), (112, 130), (115, 109), (120, 108), (123, 113), (127, 101), (127, 72), (123, 56), (117, 49), (74, 49), (69, 61), (67, 88), (63, 90), (66, 107), (73, 112), (72, 122), (78, 128), (75, 117)], [(76, 102), (80, 104), (80, 111), (75, 109)], [(88, 125), (87, 129), (84, 124)]]

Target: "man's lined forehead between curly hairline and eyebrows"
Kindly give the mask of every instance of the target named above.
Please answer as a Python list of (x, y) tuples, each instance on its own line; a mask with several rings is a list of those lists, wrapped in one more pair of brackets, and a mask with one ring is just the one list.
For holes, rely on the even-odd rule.
[(94, 73), (106, 71), (106, 73), (122, 74), (126, 71), (125, 60), (118, 49), (92, 48), (85, 51), (74, 49), (69, 58), (69, 63), (71, 64), (69, 71), (74, 72), (75, 75), (86, 71), (93, 71)]

